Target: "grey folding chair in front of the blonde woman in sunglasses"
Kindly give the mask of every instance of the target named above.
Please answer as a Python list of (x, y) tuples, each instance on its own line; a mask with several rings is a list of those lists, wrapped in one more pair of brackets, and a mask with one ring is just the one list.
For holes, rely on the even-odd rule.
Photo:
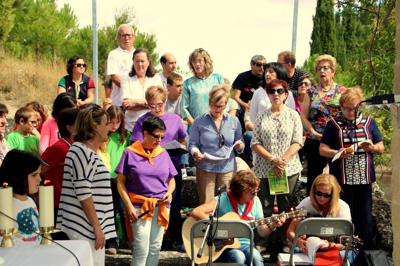
[[(327, 234), (326, 231), (322, 232), (322, 228), (333, 229), (333, 233)], [(344, 254), (345, 260), (342, 264), (342, 266), (344, 266), (347, 263), (347, 265), (350, 266), (350, 263), (347, 260), (347, 254), (351, 243), (353, 242), (354, 234), (354, 225), (350, 220), (344, 218), (307, 218), (301, 221), (297, 226), (296, 234), (294, 235), (293, 246), (290, 250), (289, 265), (292, 264), (292, 266), (294, 266), (294, 262), (292, 261), (294, 248), (296, 248), (297, 238), (303, 234), (312, 234), (318, 237), (350, 236), (349, 244), (346, 246), (346, 253)]]

